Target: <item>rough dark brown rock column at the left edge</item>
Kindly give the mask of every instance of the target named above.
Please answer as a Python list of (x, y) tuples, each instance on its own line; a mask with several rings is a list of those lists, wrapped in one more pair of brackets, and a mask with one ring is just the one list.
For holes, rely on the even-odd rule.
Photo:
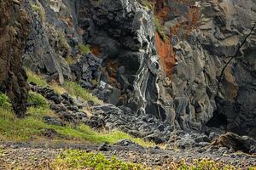
[(21, 3), (19, 0), (0, 2), (0, 91), (9, 96), (19, 117), (26, 112), (28, 85), (21, 56), (30, 24)]

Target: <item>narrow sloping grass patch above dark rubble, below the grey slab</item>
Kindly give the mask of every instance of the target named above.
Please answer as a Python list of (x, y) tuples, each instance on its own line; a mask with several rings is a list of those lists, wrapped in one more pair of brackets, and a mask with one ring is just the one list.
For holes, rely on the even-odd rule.
[(90, 94), (89, 90), (82, 88), (77, 82), (65, 82), (63, 88), (73, 97), (79, 97), (85, 101), (93, 101), (96, 104), (102, 103), (100, 99), (97, 99), (96, 96)]

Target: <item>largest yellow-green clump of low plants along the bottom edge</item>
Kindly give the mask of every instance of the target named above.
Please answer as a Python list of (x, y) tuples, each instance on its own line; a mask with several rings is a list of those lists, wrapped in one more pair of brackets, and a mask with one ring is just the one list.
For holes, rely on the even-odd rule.
[(66, 150), (52, 164), (58, 169), (144, 169), (140, 164), (119, 161), (116, 157), (106, 158), (102, 153), (86, 153), (81, 150)]

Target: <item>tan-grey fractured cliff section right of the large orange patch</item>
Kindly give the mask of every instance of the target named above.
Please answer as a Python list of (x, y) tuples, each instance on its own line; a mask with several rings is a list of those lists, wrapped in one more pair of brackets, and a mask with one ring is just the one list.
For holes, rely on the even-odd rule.
[(228, 130), (255, 138), (255, 31), (224, 71), (221, 92), (215, 98), (220, 71), (251, 29), (255, 2), (210, 1), (189, 7), (170, 0), (166, 6), (178, 11), (168, 13), (165, 21), (177, 59), (172, 74), (176, 116), (188, 122), (185, 128), (195, 129), (218, 116), (215, 125), (226, 122)]

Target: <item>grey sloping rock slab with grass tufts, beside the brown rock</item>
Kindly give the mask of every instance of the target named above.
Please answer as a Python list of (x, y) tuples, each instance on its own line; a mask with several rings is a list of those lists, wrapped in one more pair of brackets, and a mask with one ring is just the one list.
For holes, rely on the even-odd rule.
[(62, 1), (55, 3), (61, 8), (56, 13), (52, 8), (57, 7), (48, 0), (26, 1), (26, 10), (32, 23), (23, 61), (27, 68), (44, 74), (49, 81), (63, 83), (71, 77), (65, 60), (71, 53), (67, 35), (76, 37), (77, 33), (73, 30), (76, 27), (74, 23), (67, 23), (72, 15), (68, 13), (66, 5)]

